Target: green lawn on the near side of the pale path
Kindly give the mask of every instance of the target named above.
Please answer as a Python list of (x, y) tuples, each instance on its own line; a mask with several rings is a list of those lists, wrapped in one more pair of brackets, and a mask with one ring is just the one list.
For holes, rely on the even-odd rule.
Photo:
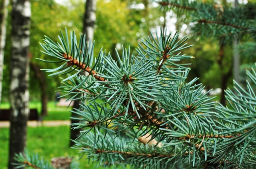
[[(29, 151), (38, 153), (50, 163), (51, 158), (69, 156), (78, 160), (78, 150), (69, 147), (70, 137), (69, 126), (60, 127), (29, 127), (27, 136), (27, 148)], [(8, 149), (9, 149), (9, 129), (0, 129), (0, 169), (7, 169)], [(84, 159), (79, 160), (80, 168), (94, 168)]]

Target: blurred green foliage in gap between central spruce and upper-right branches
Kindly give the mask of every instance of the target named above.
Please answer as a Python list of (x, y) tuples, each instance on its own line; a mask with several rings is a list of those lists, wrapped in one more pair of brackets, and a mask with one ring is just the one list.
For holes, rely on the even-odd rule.
[[(193, 48), (186, 50), (186, 53), (195, 56), (191, 61), (191, 70), (189, 72), (188, 80), (198, 77), (197, 83), (206, 85), (207, 90), (211, 88), (218, 88), (221, 84), (220, 67), (215, 63), (218, 56), (218, 42), (212, 42), (212, 39), (204, 39), (194, 41), (189, 39), (189, 43), (194, 43)], [(225, 54), (229, 54), (229, 48), (226, 49)], [(230, 58), (224, 58), (226, 67), (230, 67)]]

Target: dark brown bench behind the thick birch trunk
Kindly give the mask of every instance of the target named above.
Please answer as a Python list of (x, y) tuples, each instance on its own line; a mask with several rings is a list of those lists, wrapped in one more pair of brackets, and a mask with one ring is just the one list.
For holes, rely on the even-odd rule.
[[(0, 121), (9, 121), (10, 113), (10, 109), (0, 109)], [(30, 109), (29, 120), (39, 120), (37, 109)]]

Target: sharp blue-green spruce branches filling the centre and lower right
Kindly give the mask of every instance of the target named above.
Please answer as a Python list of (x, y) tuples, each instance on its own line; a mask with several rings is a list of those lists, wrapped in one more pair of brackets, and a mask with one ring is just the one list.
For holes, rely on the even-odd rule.
[[(60, 91), (82, 104), (75, 113), (82, 128), (76, 139), (80, 153), (103, 166), (131, 168), (252, 168), (256, 162), (256, 73), (247, 72), (247, 89), (235, 82), (227, 90), (228, 107), (216, 109), (197, 79), (186, 82), (190, 59), (182, 51), (187, 37), (161, 32), (142, 39), (136, 52), (123, 47), (117, 60), (94, 42), (65, 30), (59, 42), (45, 37), (41, 44), (49, 76), (70, 73)], [(41, 59), (40, 59), (41, 60)], [(54, 64), (55, 65), (55, 64)], [(80, 72), (86, 75), (76, 76)], [(77, 83), (79, 82), (79, 84)], [(17, 156), (24, 165), (30, 156)], [(31, 163), (37, 163), (31, 161)]]

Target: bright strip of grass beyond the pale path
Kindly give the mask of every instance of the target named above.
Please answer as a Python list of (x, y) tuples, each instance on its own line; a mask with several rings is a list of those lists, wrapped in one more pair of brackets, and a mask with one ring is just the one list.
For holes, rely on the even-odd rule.
[[(10, 104), (8, 102), (1, 103), (1, 109), (9, 109)], [(37, 109), (38, 113), (41, 113), (41, 102), (31, 101), (29, 102), (29, 108)], [(70, 110), (72, 107), (55, 107), (54, 101), (49, 101), (47, 104), (48, 116), (44, 117), (44, 120), (69, 120)]]

